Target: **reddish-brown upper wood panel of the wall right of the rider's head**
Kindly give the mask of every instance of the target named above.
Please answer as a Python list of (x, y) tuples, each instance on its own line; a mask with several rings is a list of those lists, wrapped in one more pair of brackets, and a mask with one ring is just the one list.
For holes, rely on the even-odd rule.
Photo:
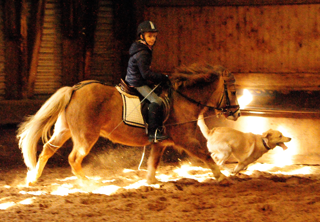
[[(318, 72), (320, 4), (149, 7), (159, 71), (207, 61), (239, 72)], [(183, 19), (177, 19), (183, 18)]]

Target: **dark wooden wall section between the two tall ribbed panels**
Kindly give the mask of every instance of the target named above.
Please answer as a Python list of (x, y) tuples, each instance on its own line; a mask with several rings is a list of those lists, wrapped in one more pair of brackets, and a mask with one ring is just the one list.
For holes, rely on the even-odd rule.
[(91, 78), (97, 0), (61, 0), (62, 85)]

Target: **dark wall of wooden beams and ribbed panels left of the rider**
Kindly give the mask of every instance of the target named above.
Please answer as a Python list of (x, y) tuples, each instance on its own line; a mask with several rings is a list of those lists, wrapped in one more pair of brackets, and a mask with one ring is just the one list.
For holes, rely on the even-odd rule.
[(34, 114), (61, 86), (86, 79), (119, 82), (122, 46), (113, 17), (124, 13), (121, 3), (1, 1), (0, 124)]

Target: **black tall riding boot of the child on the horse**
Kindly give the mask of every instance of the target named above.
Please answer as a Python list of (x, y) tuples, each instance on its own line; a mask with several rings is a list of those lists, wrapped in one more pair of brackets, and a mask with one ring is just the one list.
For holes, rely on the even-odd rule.
[(157, 142), (158, 140), (163, 140), (168, 138), (167, 135), (162, 135), (159, 128), (163, 123), (163, 111), (162, 106), (158, 105), (156, 102), (151, 102), (149, 104), (148, 111), (148, 135), (149, 141)]

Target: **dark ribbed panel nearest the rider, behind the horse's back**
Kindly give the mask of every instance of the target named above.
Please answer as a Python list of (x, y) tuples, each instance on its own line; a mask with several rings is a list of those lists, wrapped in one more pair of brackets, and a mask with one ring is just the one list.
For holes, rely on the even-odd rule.
[(111, 0), (100, 0), (94, 35), (91, 77), (105, 81), (112, 78), (118, 54), (115, 52), (115, 40), (112, 31), (113, 9)]

